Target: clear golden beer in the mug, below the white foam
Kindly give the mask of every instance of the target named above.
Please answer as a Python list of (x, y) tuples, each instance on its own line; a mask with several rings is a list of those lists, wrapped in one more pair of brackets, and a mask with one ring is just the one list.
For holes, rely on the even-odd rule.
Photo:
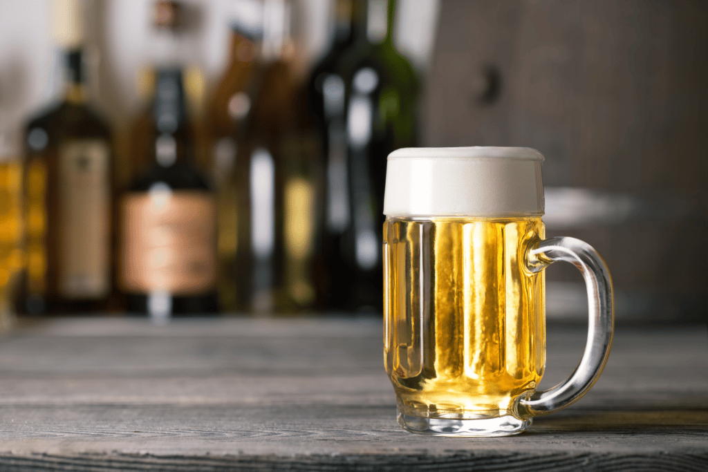
[[(519, 418), (545, 364), (540, 217), (389, 217), (384, 362), (399, 414)], [(523, 418), (521, 418), (523, 419)]]

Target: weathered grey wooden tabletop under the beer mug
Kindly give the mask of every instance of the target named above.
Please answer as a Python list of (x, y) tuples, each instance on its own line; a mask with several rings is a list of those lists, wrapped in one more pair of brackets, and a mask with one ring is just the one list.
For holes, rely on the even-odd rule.
[[(550, 386), (584, 328), (549, 326)], [(516, 437), (396, 424), (375, 319), (35, 322), (0, 340), (0, 470), (708, 470), (705, 326), (618, 328), (600, 381)]]

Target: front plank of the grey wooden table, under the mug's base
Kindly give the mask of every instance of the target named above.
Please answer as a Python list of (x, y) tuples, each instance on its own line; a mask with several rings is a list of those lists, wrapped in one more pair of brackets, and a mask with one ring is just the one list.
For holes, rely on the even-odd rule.
[[(702, 470), (708, 464), (705, 411), (576, 411), (538, 420), (513, 438), (428, 438), (401, 430), (387, 406), (320, 408), (145, 407), (45, 408), (4, 411), (0, 464), (72, 461), (86, 470), (270, 464), (285, 470), (411, 470), (433, 466), (521, 470)], [(9, 423), (9, 424), (8, 424)], [(18, 426), (19, 424), (19, 426)], [(15, 425), (12, 434), (7, 427)], [(11, 437), (8, 437), (11, 436)], [(106, 466), (105, 463), (112, 463)], [(102, 464), (103, 463), (103, 464)], [(683, 467), (681, 466), (683, 464)], [(113, 467), (113, 468), (110, 468)], [(651, 468), (651, 467), (650, 467)], [(704, 470), (704, 469), (703, 469)]]

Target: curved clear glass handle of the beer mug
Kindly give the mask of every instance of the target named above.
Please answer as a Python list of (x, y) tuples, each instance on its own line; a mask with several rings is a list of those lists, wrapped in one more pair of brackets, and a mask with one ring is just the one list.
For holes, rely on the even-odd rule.
[(612, 279), (605, 261), (588, 243), (576, 238), (549, 238), (528, 251), (528, 268), (539, 272), (556, 260), (569, 262), (580, 270), (588, 288), (588, 343), (578, 367), (560, 384), (522, 398), (521, 418), (547, 415), (578, 401), (603, 372), (612, 345), (615, 309)]

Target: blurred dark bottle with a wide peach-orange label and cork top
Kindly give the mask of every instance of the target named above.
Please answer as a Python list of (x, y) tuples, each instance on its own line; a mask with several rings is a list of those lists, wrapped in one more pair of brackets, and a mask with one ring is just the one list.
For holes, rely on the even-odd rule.
[(128, 310), (157, 323), (171, 316), (217, 311), (215, 194), (195, 163), (179, 45), (180, 4), (159, 1), (159, 45), (152, 120), (140, 123), (149, 141), (134, 151), (147, 163), (121, 200), (120, 285)]

